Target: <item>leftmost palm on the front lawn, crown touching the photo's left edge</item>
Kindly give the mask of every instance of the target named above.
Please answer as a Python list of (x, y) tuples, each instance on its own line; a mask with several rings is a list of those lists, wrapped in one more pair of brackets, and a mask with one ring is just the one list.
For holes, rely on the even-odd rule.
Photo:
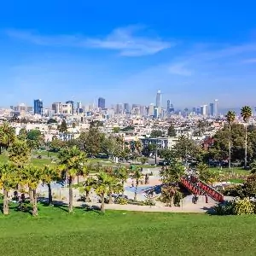
[(0, 164), (0, 189), (3, 189), (3, 214), (9, 214), (9, 190), (15, 188), (15, 166), (10, 163)]

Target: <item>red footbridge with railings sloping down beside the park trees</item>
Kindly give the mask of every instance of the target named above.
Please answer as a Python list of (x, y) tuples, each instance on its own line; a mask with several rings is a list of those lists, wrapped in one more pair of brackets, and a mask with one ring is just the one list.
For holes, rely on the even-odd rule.
[(183, 187), (189, 190), (194, 195), (208, 195), (214, 201), (223, 202), (224, 195), (213, 189), (207, 183), (202, 182), (198, 177), (186, 176), (181, 178)]

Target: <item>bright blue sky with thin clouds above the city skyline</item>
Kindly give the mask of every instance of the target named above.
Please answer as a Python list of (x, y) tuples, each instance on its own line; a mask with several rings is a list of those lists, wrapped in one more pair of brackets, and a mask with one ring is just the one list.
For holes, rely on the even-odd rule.
[(255, 1), (0, 3), (0, 106), (256, 106)]

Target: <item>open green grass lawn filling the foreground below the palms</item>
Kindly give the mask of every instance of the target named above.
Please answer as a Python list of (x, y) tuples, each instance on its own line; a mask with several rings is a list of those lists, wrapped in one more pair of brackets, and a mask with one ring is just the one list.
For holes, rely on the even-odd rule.
[(158, 212), (68, 214), (39, 208), (39, 217), (0, 213), (0, 255), (255, 255), (255, 216)]

